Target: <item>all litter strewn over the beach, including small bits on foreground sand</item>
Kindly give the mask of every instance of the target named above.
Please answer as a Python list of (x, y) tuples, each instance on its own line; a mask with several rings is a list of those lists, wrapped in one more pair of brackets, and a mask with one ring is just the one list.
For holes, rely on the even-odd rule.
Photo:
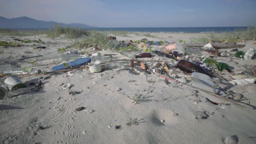
[[(115, 37), (108, 39), (117, 41)], [(42, 40), (20, 40), (20, 43), (44, 43)], [(15, 43), (3, 42), (2, 46), (16, 46)], [(132, 75), (157, 75), (159, 79), (164, 80), (166, 85), (171, 87), (179, 87), (182, 85), (189, 86), (191, 96), (198, 97), (198, 91), (211, 95), (206, 98), (209, 103), (220, 105), (223, 109), (230, 104), (248, 107), (254, 109), (250, 105), (249, 100), (245, 97), (246, 93), (228, 91), (227, 87), (238, 85), (245, 91), (255, 91), (256, 67), (243, 65), (246, 70), (237, 71), (225, 61), (232, 62), (232, 59), (240, 59), (241, 61), (251, 60), (255, 58), (255, 50), (249, 49), (247, 52), (239, 51), (239, 48), (245, 45), (238, 44), (184, 44), (179, 42), (169, 43), (168, 41), (149, 41), (130, 40), (118, 41), (117, 49), (110, 53), (101, 51), (102, 47), (92, 45), (82, 50), (58, 49), (58, 52), (67, 52), (67, 55), (53, 57), (53, 63), (44, 69), (34, 69), (37, 61), (28, 62), (32, 67), (17, 67), (17, 65), (2, 64), (0, 65), (0, 76), (5, 80), (0, 84), (0, 99), (11, 98), (27, 91), (39, 92), (43, 88), (43, 80), (50, 79), (50, 76), (57, 73), (67, 73), (67, 76), (73, 76), (77, 71), (83, 69), (90, 73), (103, 73), (107, 70), (127, 70)], [(46, 49), (45, 46), (37, 46), (37, 49)], [(117, 55), (123, 55), (126, 58), (120, 59)], [(43, 57), (43, 55), (33, 56)], [(24, 57), (15, 59), (23, 61)], [(225, 60), (223, 60), (225, 58)], [(221, 60), (222, 59), (222, 60)], [(235, 63), (237, 64), (237, 63)], [(82, 72), (83, 73), (83, 72)], [(27, 88), (27, 85), (20, 81), (19, 76), (44, 75), (37, 82), (28, 83), (33, 86)], [(150, 82), (150, 81), (149, 81)], [(62, 83), (62, 89), (72, 87), (69, 83)], [(196, 90), (195, 90), (196, 89)], [(230, 89), (230, 88), (229, 88)], [(116, 91), (121, 91), (117, 88)], [(71, 95), (80, 94), (83, 91), (69, 92)], [(129, 97), (133, 104), (139, 104), (143, 99), (141, 95)], [(217, 99), (216, 99), (217, 98)], [(200, 103), (200, 99), (194, 100), (194, 104)], [(82, 111), (86, 107), (78, 107), (76, 111)], [(88, 113), (94, 110), (88, 110)], [(213, 113), (206, 111), (195, 112), (196, 118), (207, 119)], [(133, 123), (130, 120), (130, 125)], [(162, 123), (165, 120), (161, 120)], [(109, 126), (110, 127), (110, 126)], [(115, 126), (115, 129), (120, 129)], [(231, 139), (229, 137), (229, 139)], [(226, 141), (230, 141), (227, 139)]]

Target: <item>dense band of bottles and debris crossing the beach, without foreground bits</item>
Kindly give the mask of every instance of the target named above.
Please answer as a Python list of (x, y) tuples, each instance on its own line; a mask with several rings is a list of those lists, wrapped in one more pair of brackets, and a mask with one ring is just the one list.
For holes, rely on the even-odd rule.
[[(112, 36), (108, 38), (117, 40)], [(21, 41), (21, 43), (44, 43), (40, 39), (36, 41), (15, 40)], [(54, 64), (57, 65), (51, 67), (50, 71), (0, 65), (1, 76), (7, 77), (4, 83), (1, 84), (0, 98), (7, 98), (9, 91), (26, 87), (17, 76), (48, 75), (65, 72), (68, 75), (72, 75), (72, 73), (75, 73), (75, 70), (82, 69), (88, 69), (90, 73), (101, 73), (102, 71), (113, 69), (129, 69), (131, 74), (139, 75), (146, 73), (159, 75), (166, 80), (167, 85), (168, 83), (172, 83), (173, 87), (177, 87), (178, 83), (182, 83), (182, 85), (191, 86), (219, 99), (252, 107), (241, 101), (235, 101), (234, 99), (238, 97), (234, 96), (234, 92), (226, 92), (224, 90), (225, 88), (221, 88), (219, 85), (223, 85), (223, 81), (229, 82), (232, 85), (243, 86), (255, 83), (256, 68), (250, 67), (247, 68), (247, 71), (234, 74), (232, 68), (226, 63), (218, 62), (218, 58), (235, 56), (236, 58), (245, 60), (254, 59), (254, 49), (243, 52), (238, 51), (238, 48), (244, 47), (245, 45), (210, 43), (181, 44), (179, 42), (168, 43), (168, 41), (149, 41), (147, 39), (119, 41), (118, 44), (119, 47), (115, 50), (116, 53), (104, 55), (100, 52), (101, 48), (97, 46), (88, 47), (84, 55), (79, 55), (80, 52), (78, 51), (69, 51), (68, 55), (54, 57)], [(45, 46), (39, 47), (46, 48)], [(225, 51), (219, 51), (222, 49), (225, 49)], [(122, 55), (125, 55), (125, 53), (132, 55), (125, 55), (127, 59), (118, 59), (118, 57), (115, 57), (117, 52), (120, 52)], [(222, 76), (224, 73), (232, 74), (232, 80), (224, 78)], [(191, 82), (191, 85), (187, 84), (189, 82)], [(42, 87), (41, 85), (42, 81), (38, 81), (33, 91), (39, 91), (39, 88)]]

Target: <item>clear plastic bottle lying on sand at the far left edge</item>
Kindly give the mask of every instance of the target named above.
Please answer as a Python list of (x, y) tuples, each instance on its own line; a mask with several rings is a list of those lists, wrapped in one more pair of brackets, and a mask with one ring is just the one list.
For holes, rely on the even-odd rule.
[(20, 75), (20, 74), (27, 74), (27, 72), (22, 68), (11, 67), (11, 65), (0, 65), (0, 74)]

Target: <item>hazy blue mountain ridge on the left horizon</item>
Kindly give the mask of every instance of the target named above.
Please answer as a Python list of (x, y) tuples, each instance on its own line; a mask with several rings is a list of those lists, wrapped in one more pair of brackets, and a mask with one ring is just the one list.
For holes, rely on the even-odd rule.
[(78, 27), (78, 28), (96, 28), (93, 26), (84, 25), (82, 23), (59, 23), (54, 21), (40, 21), (35, 20), (27, 16), (17, 17), (13, 19), (7, 19), (0, 16), (0, 28), (32, 28), (32, 29), (45, 29), (51, 28), (55, 25), (60, 25), (62, 27)]

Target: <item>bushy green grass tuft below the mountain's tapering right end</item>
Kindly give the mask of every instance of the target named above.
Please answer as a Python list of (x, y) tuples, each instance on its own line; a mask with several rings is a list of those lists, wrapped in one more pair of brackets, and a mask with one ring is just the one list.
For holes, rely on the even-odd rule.
[(54, 28), (49, 29), (47, 36), (59, 37), (61, 34), (65, 34), (68, 38), (75, 39), (82, 37), (82, 35), (88, 35), (89, 32), (83, 28), (61, 27), (60, 25), (55, 25)]

